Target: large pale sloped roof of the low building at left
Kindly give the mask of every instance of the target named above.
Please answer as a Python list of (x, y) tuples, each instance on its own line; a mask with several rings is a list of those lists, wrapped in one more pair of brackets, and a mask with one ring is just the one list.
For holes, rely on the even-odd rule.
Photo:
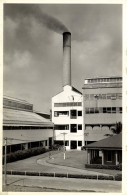
[(34, 112), (4, 108), (3, 125), (53, 126), (53, 123)]

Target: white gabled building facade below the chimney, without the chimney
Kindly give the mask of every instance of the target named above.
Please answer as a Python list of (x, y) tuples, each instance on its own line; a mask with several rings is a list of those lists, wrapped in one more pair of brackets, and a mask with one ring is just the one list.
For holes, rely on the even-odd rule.
[(65, 144), (66, 150), (81, 150), (84, 144), (82, 108), (82, 93), (72, 86), (64, 86), (61, 93), (52, 97), (55, 144)]

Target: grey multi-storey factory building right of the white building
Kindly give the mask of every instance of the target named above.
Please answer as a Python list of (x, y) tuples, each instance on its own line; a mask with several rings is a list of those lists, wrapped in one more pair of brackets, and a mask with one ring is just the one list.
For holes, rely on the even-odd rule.
[(85, 79), (83, 123), (85, 144), (106, 138), (122, 122), (122, 77)]

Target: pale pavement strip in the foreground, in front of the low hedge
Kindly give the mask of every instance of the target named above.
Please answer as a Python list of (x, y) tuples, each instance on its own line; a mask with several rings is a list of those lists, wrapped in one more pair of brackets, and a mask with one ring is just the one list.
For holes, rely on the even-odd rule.
[[(42, 189), (58, 189), (65, 191), (88, 192), (121, 192), (120, 181), (86, 180), (75, 178), (51, 178), (7, 175), (7, 183), (17, 186), (41, 187)], [(34, 189), (33, 189), (34, 190)]]

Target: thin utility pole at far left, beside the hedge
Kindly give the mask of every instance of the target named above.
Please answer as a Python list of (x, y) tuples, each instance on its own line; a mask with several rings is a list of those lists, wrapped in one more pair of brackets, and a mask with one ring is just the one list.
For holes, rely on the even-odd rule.
[(5, 151), (4, 151), (4, 185), (7, 185), (7, 138), (5, 140)]

